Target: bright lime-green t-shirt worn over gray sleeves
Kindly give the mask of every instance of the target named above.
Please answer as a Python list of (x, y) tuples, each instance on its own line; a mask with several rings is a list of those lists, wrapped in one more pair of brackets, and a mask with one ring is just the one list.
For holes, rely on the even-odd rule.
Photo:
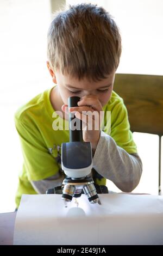
[[(55, 113), (51, 101), (51, 89), (37, 95), (15, 114), (15, 125), (20, 136), (23, 168), (19, 174), (16, 205), (20, 204), (22, 194), (37, 194), (30, 181), (38, 181), (55, 175), (61, 168), (61, 144), (69, 142), (68, 121)], [(112, 91), (109, 102), (103, 107), (104, 113), (111, 111), (111, 127), (104, 115), (101, 129), (110, 135), (116, 144), (129, 154), (136, 153), (136, 145), (130, 131), (127, 109), (123, 100)], [(63, 123), (64, 130), (54, 130), (53, 122)], [(105, 179), (96, 183), (105, 185)]]

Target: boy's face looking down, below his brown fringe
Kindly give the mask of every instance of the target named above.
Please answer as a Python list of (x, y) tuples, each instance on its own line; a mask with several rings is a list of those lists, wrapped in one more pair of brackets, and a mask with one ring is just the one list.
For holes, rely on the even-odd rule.
[(106, 105), (111, 97), (115, 71), (108, 75), (107, 78), (98, 82), (90, 82), (86, 78), (79, 81), (69, 75), (63, 75), (60, 71), (55, 72), (55, 74), (52, 70), (49, 70), (49, 72), (52, 75), (53, 82), (58, 85), (61, 100), (65, 105), (68, 104), (68, 97), (70, 96), (96, 95), (102, 106)]

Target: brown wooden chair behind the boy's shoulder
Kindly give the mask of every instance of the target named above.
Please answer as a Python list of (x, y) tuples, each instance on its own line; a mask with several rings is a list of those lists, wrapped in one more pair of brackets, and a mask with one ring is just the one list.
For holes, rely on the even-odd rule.
[(163, 76), (116, 74), (115, 92), (128, 109), (132, 132), (159, 136), (159, 194), (161, 193), (161, 136), (163, 135)]

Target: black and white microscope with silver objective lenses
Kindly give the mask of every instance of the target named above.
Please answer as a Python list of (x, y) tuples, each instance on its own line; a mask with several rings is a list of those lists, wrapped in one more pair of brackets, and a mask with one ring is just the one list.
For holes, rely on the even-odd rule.
[[(69, 97), (68, 107), (78, 106), (79, 100), (78, 96)], [(90, 177), (91, 143), (83, 142), (82, 120), (74, 117), (73, 113), (69, 114), (69, 119), (70, 142), (61, 145), (61, 168), (66, 174), (62, 182), (62, 199), (71, 202), (73, 197), (80, 197), (84, 192), (91, 204), (100, 203), (93, 179)]]

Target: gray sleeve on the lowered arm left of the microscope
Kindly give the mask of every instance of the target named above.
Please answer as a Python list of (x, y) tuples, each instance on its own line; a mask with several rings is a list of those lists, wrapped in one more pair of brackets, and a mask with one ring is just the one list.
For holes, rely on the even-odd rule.
[(43, 180), (30, 181), (34, 190), (39, 194), (45, 194), (49, 188), (54, 188), (62, 185), (65, 175), (61, 172)]

